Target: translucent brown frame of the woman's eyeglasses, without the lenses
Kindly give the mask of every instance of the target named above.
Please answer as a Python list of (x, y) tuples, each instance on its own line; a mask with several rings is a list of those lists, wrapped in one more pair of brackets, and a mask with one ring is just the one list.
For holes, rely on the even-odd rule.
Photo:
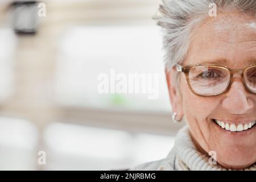
[[(247, 92), (249, 93), (253, 93), (253, 94), (256, 94), (256, 92), (253, 92), (249, 89), (249, 87), (246, 85), (246, 81), (245, 81), (245, 72), (250, 69), (250, 68), (253, 68), (253, 67), (256, 67), (256, 64), (251, 64), (249, 67), (246, 67), (246, 68), (243, 68), (243, 69), (232, 69), (232, 68), (228, 68), (224, 65), (218, 65), (218, 64), (193, 64), (193, 65), (186, 65), (186, 66), (181, 66), (180, 64), (176, 64), (176, 71), (177, 72), (183, 72), (185, 74), (185, 77), (186, 77), (186, 80), (187, 80), (187, 84), (188, 84), (188, 87), (189, 89), (191, 90), (191, 92), (193, 94), (195, 94), (196, 96), (200, 96), (200, 97), (212, 97), (212, 96), (219, 96), (220, 94), (223, 94), (223, 93), (226, 93), (229, 91), (232, 83), (233, 83), (233, 78), (234, 78), (234, 75), (235, 74), (240, 74), (241, 76), (241, 80), (242, 80), (242, 84), (243, 86), (246, 88)], [(217, 94), (208, 94), (208, 95), (204, 95), (204, 94), (199, 94), (199, 93), (196, 93), (193, 89), (192, 89), (192, 86), (191, 86), (191, 82), (189, 80), (189, 72), (192, 68), (195, 68), (195, 67), (199, 67), (199, 66), (210, 66), (210, 67), (216, 67), (216, 68), (221, 68), (221, 69), (226, 69), (226, 71), (229, 72), (230, 74), (230, 77), (229, 77), (229, 82), (228, 82), (228, 86), (226, 86), (226, 88), (224, 89), (224, 91), (222, 91), (221, 93), (217, 93)]]

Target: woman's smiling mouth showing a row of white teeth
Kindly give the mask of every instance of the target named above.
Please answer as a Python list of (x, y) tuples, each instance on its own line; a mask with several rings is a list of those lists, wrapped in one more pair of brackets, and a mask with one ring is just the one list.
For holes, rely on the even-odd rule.
[(213, 122), (215, 122), (219, 127), (226, 131), (231, 132), (242, 132), (253, 129), (253, 127), (256, 125), (256, 120), (248, 122), (248, 123), (227, 123), (224, 121), (220, 121), (218, 119), (212, 119)]

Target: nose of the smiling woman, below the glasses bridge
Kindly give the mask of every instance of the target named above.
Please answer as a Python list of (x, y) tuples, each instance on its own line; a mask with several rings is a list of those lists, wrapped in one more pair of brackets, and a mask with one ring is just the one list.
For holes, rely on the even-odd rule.
[(246, 92), (241, 81), (234, 81), (228, 93), (226, 93), (222, 106), (230, 114), (245, 114), (246, 111), (254, 107), (254, 102), (247, 98)]

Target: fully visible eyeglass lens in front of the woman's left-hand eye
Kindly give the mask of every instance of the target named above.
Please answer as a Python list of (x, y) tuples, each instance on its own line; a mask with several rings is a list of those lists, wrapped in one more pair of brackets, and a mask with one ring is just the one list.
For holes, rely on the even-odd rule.
[(197, 66), (189, 71), (189, 82), (192, 90), (203, 96), (221, 94), (230, 81), (228, 69), (214, 66)]

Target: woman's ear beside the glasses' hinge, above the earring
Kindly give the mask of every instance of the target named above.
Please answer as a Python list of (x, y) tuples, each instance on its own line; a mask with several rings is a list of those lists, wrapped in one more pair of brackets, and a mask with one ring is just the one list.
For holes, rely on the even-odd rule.
[(166, 81), (169, 91), (169, 97), (172, 105), (172, 111), (177, 113), (176, 118), (181, 119), (184, 115), (183, 112), (183, 100), (182, 94), (180, 93), (180, 89), (177, 88), (176, 77), (175, 77), (176, 69), (172, 68), (171, 70), (166, 69)]

